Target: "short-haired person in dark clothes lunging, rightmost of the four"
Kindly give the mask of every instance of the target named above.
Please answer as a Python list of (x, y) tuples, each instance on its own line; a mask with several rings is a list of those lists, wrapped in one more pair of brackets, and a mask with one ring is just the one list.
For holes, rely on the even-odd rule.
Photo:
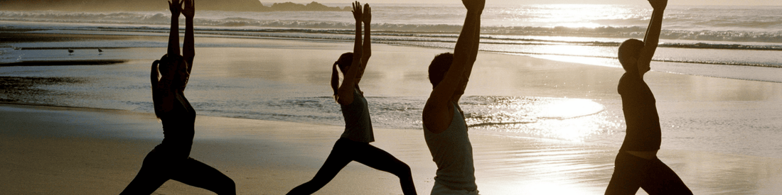
[(643, 188), (649, 194), (692, 194), (676, 172), (657, 158), (660, 149), (660, 118), (655, 95), (644, 82), (649, 62), (655, 55), (662, 12), (667, 0), (650, 0), (654, 11), (644, 41), (630, 39), (619, 45), (619, 62), (626, 73), (619, 79), (619, 94), (627, 125), (625, 140), (616, 155), (614, 174), (605, 194), (635, 194)]

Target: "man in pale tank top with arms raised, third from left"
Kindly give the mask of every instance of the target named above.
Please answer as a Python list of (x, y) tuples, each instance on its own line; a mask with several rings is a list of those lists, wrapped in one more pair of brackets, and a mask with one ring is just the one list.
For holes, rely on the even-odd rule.
[(437, 55), (429, 65), (432, 94), (423, 111), (424, 137), (437, 175), (432, 194), (478, 194), (472, 144), (467, 134), (459, 98), (478, 55), (481, 13), (485, 0), (462, 0), (467, 8), (465, 25), (456, 42), (454, 54)]

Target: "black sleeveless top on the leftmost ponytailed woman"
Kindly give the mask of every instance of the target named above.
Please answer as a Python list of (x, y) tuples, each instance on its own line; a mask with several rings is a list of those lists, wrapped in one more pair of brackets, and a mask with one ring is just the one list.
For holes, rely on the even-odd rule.
[(190, 155), (190, 149), (195, 134), (195, 110), (190, 102), (181, 94), (174, 94), (173, 108), (160, 116), (163, 123), (163, 143), (156, 149), (173, 152), (176, 155)]

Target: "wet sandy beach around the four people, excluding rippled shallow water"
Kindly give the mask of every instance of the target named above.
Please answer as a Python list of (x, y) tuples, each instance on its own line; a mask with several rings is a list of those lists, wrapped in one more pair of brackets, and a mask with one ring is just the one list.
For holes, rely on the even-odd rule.
[[(221, 41), (248, 40), (196, 39), (197, 43)], [(269, 80), (285, 80), (298, 87), (275, 89), (281, 94), (296, 90), (329, 94), (331, 89), (322, 80), (329, 76), (330, 69), (312, 67), (321, 67), (350, 51), (350, 43), (346, 42), (249, 41), (267, 47), (196, 48), (196, 61), (204, 66), (196, 65), (192, 84), (209, 84), (212, 78), (224, 74), (267, 76)], [(120, 63), (142, 68), (149, 67), (151, 60), (165, 52), (165, 48), (105, 50), (149, 55), (127, 57), (127, 62)], [(433, 55), (443, 51), (375, 44), (371, 69), (364, 76), (374, 79), (363, 81), (362, 89), (376, 96), (425, 96), (431, 89), (425, 75), (411, 73), (421, 72), (421, 64), (428, 64)], [(307, 55), (297, 55), (301, 53)], [(258, 63), (260, 68), (206, 66), (216, 63)], [(475, 67), (480, 69), (473, 71), (468, 95), (589, 98), (604, 105), (604, 112), (612, 113), (612, 117), (622, 117), (615, 90), (622, 69), (490, 53), (481, 53)], [(300, 69), (311, 71), (301, 75)], [(307, 79), (301, 79), (302, 76)], [(725, 120), (725, 126), (730, 126), (731, 120), (747, 119), (757, 120), (759, 126), (782, 126), (777, 122), (782, 118), (777, 112), (782, 105), (780, 83), (659, 72), (649, 73), (647, 80), (651, 80), (649, 85), (658, 99), (663, 126), (670, 125), (665, 121), (709, 119)], [(128, 82), (149, 81), (141, 76)], [(207, 93), (210, 92), (188, 90), (188, 98), (198, 101), (199, 94)], [(119, 91), (111, 98), (142, 95), (149, 96), (149, 89)], [(152, 113), (144, 111), (135, 107), (0, 105), (0, 155), (5, 157), (0, 161), (0, 189), (9, 194), (119, 193), (138, 172), (145, 155), (163, 138), (160, 123)], [(676, 129), (663, 128), (664, 136), (669, 130)], [(199, 115), (195, 131), (191, 157), (234, 179), (239, 194), (283, 194), (314, 176), (343, 126)], [(479, 131), (471, 131), (470, 136), (481, 194), (602, 194), (619, 150), (615, 144), (508, 137)], [(693, 135), (698, 136), (702, 135)], [(739, 144), (776, 143), (777, 138), (759, 133), (757, 137), (744, 137)], [(373, 145), (411, 166), (418, 193), (428, 194), (436, 165), (421, 130), (376, 128), (375, 140)], [(695, 194), (774, 194), (782, 190), (778, 185), (782, 182), (782, 159), (762, 157), (766, 154), (763, 152), (742, 155), (733, 151), (676, 149), (697, 141), (663, 137), (663, 149), (658, 154)], [(769, 151), (777, 149), (772, 147)], [(156, 194), (210, 192), (170, 181)], [(316, 194), (401, 194), (401, 190), (395, 176), (353, 162)], [(645, 193), (639, 190), (639, 194)]]

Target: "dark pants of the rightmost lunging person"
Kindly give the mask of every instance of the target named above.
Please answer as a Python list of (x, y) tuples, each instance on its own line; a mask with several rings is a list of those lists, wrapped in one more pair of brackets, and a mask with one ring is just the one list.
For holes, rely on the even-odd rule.
[(619, 151), (616, 155), (614, 175), (605, 194), (635, 194), (639, 187), (650, 195), (692, 194), (682, 179), (676, 176), (676, 172), (660, 159), (645, 159)]

